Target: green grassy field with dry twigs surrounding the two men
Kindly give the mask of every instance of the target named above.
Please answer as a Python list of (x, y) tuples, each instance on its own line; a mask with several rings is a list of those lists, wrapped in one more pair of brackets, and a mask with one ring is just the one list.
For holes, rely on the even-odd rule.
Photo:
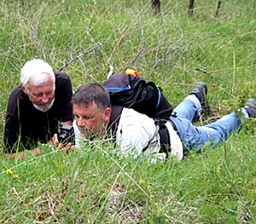
[[(127, 67), (160, 84), (172, 106), (208, 85), (211, 123), (255, 98), (256, 1), (2, 0), (0, 223), (256, 223), (255, 120), (223, 146), (178, 163), (120, 159), (91, 142), (64, 156), (3, 158), (11, 89), (27, 60), (67, 72), (73, 89)], [(11, 170), (10, 170), (11, 169)]]

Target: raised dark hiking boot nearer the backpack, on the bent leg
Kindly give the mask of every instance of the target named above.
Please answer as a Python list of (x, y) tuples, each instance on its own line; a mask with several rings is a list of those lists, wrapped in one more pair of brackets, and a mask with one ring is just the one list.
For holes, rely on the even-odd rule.
[(207, 101), (207, 84), (203, 82), (196, 83), (190, 95), (192, 94), (195, 94), (201, 102), (202, 113), (208, 116), (210, 114), (210, 106)]

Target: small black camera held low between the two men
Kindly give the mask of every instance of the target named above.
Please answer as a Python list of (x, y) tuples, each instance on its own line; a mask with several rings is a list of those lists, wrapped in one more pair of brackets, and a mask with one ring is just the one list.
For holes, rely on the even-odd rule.
[(73, 126), (59, 123), (57, 127), (57, 135), (58, 135), (58, 141), (61, 144), (71, 142), (73, 145), (74, 141), (74, 130)]

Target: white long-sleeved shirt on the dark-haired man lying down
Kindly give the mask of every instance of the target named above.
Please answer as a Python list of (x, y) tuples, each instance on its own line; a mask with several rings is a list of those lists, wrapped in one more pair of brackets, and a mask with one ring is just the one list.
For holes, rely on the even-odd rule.
[[(83, 137), (75, 123), (73, 123), (73, 126), (76, 145), (79, 146)], [(177, 160), (181, 160), (183, 158), (182, 142), (170, 122), (166, 122), (166, 127), (170, 135), (171, 155), (176, 157)], [(125, 156), (137, 158), (143, 152), (143, 148), (148, 146), (148, 149), (143, 153), (152, 157), (153, 161), (166, 158), (166, 153), (160, 152), (160, 135), (157, 132), (154, 119), (148, 118), (147, 115), (136, 112), (131, 108), (124, 108), (121, 113), (116, 133), (116, 143), (119, 146), (119, 152)]]

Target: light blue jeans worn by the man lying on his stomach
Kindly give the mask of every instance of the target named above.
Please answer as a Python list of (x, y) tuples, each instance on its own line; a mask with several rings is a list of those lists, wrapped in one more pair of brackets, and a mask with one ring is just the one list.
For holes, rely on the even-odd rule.
[[(170, 117), (176, 125), (177, 135), (183, 143), (183, 154), (188, 155), (190, 150), (201, 152), (201, 148), (209, 142), (210, 147), (222, 143), (236, 129), (241, 126), (241, 118), (236, 112), (218, 119), (211, 124), (196, 127), (192, 121), (201, 114), (201, 104), (195, 95), (189, 95), (174, 110), (177, 117)], [(248, 118), (246, 109), (242, 108), (243, 117)]]

